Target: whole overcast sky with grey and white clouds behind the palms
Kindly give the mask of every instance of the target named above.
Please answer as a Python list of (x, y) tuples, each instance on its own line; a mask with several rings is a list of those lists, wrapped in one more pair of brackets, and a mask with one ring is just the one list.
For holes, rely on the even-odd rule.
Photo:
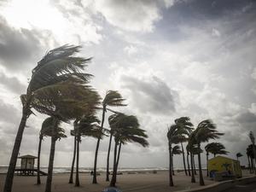
[[(20, 123), (20, 94), (49, 49), (83, 45), (93, 56), (91, 84), (104, 96), (119, 90), (148, 131), (149, 148), (128, 144), (120, 166), (166, 167), (167, 125), (189, 116), (212, 119), (230, 157), (256, 134), (256, 2), (254, 0), (1, 0), (0, 166), (9, 164)], [(108, 114), (109, 115), (109, 114)], [(20, 154), (37, 154), (45, 116), (27, 122)], [(69, 135), (71, 125), (64, 125)], [(105, 126), (108, 127), (108, 124)], [(42, 164), (47, 166), (49, 138)], [(108, 138), (99, 166), (106, 164)], [(81, 166), (92, 166), (96, 140), (82, 142)], [(55, 166), (69, 166), (73, 138), (57, 143)], [(247, 159), (241, 158), (242, 164)], [(181, 157), (175, 165), (181, 166)]]

